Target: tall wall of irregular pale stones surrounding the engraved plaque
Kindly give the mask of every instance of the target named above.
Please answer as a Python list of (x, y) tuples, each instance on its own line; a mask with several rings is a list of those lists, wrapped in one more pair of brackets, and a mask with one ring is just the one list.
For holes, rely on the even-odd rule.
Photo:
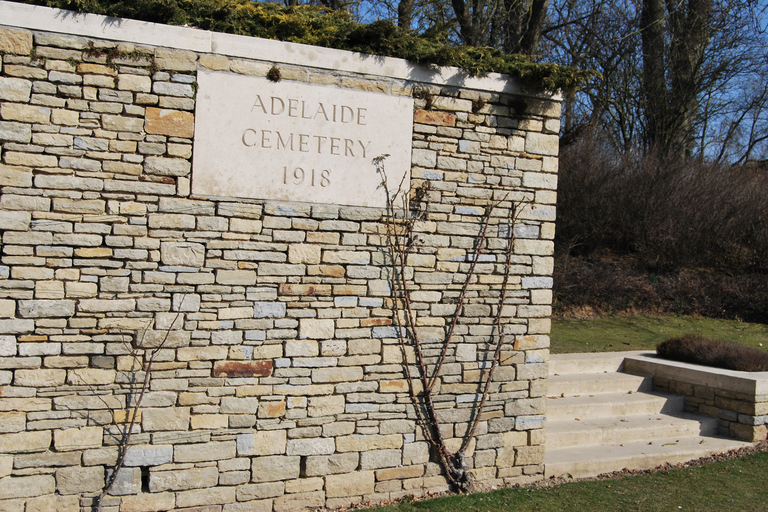
[(131, 349), (160, 345), (104, 510), (280, 512), (448, 488), (392, 325), (383, 210), (193, 197), (201, 69), (279, 66), (287, 82), (415, 98), (425, 213), (406, 271), (425, 339), (445, 335), (496, 204), (438, 382), (441, 433), (457, 448), (479, 399), (514, 232), (507, 338), (467, 464), (488, 486), (542, 477), (556, 98), (396, 59), (0, 11), (0, 510), (90, 510), (145, 376)]

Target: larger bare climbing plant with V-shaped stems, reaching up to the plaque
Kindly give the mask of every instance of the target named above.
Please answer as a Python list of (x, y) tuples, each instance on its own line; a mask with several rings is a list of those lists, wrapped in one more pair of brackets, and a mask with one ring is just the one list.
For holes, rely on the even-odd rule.
[[(439, 355), (437, 357), (427, 355), (425, 346), (427, 342), (419, 334), (417, 315), (411, 300), (411, 291), (414, 284), (409, 279), (408, 256), (414, 252), (421, 241), (416, 233), (415, 224), (424, 218), (427, 213), (425, 198), (429, 191), (429, 182), (424, 182), (412, 192), (403, 190), (405, 178), (398, 184), (393, 192), (387, 182), (384, 161), (388, 155), (377, 157), (373, 160), (377, 171), (382, 176), (381, 186), (384, 188), (387, 204), (385, 220), (385, 238), (387, 250), (387, 264), (389, 265), (389, 281), (391, 286), (391, 307), (393, 322), (397, 338), (400, 344), (404, 364), (404, 374), (408, 382), (409, 393), (413, 403), (416, 419), (422, 428), (424, 437), (429, 443), (432, 453), (437, 457), (440, 466), (445, 473), (449, 485), (456, 491), (471, 490), (471, 473), (467, 471), (466, 454), (474, 439), (478, 424), (483, 417), (489, 395), (493, 387), (493, 379), (499, 366), (502, 348), (508, 343), (508, 335), (504, 333), (502, 315), (504, 305), (507, 303), (507, 290), (512, 266), (512, 254), (515, 244), (514, 226), (520, 212), (528, 206), (526, 202), (512, 202), (509, 207), (508, 243), (503, 253), (496, 255), (496, 262), (502, 265), (502, 282), (500, 285), (498, 302), (495, 304), (492, 318), (492, 332), (487, 341), (487, 352), (492, 354), (490, 365), (485, 365), (485, 371), (481, 374), (478, 383), (479, 399), (472, 404), (471, 420), (468, 428), (462, 436), (461, 444), (456, 451), (448, 448), (446, 439), (441, 430), (441, 421), (435, 407), (437, 394), (436, 385), (443, 376), (444, 364), (448, 357), (449, 349), (456, 343), (455, 331), (459, 325), (462, 310), (467, 302), (467, 290), (476, 279), (477, 263), (484, 252), (488, 251), (488, 228), (493, 218), (494, 211), (508, 200), (508, 195), (500, 200), (493, 201), (484, 209), (480, 217), (477, 235), (471, 254), (466, 261), (469, 268), (464, 275), (462, 286), (456, 300), (456, 309), (450, 318), (450, 323), (445, 328), (445, 334), (440, 342)], [(430, 343), (431, 345), (431, 343)], [(411, 350), (412, 348), (412, 354)], [(409, 359), (410, 358), (410, 359)]]

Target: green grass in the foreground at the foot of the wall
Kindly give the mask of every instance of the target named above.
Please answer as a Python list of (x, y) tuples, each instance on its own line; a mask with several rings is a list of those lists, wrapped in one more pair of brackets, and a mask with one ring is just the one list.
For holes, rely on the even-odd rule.
[(502, 489), (400, 503), (376, 512), (758, 512), (768, 510), (768, 454), (547, 488)]

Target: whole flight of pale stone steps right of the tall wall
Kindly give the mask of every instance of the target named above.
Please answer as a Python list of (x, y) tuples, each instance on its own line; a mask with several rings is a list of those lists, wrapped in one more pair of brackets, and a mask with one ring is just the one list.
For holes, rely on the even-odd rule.
[(546, 477), (650, 469), (750, 444), (717, 436), (717, 418), (683, 412), (683, 397), (652, 392), (651, 377), (622, 373), (632, 354), (551, 356)]

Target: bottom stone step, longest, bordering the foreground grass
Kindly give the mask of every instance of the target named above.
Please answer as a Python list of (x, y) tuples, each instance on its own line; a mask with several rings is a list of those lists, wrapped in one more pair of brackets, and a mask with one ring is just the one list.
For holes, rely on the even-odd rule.
[(544, 476), (584, 478), (622, 469), (652, 469), (715, 453), (736, 450), (751, 443), (723, 437), (669, 437), (653, 441), (612, 443), (550, 449), (544, 457)]

